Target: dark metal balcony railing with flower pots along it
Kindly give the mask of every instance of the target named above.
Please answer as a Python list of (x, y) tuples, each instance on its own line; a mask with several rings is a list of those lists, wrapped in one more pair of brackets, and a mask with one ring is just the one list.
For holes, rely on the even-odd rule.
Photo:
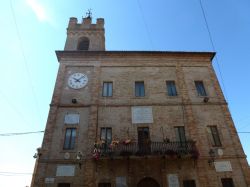
[(144, 156), (166, 155), (169, 157), (192, 157), (198, 158), (199, 153), (194, 141), (186, 142), (149, 142), (116, 145), (101, 144), (98, 146), (100, 157), (106, 156)]

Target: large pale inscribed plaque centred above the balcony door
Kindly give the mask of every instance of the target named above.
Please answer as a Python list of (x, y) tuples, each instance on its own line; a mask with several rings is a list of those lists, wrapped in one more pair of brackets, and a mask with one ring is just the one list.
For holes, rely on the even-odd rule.
[(132, 123), (153, 123), (153, 112), (151, 106), (132, 107)]

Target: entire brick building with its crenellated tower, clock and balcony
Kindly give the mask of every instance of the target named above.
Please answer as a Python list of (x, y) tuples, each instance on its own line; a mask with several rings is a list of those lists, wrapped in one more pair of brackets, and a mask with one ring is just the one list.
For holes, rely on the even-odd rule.
[(249, 187), (213, 52), (105, 51), (70, 18), (32, 187)]

